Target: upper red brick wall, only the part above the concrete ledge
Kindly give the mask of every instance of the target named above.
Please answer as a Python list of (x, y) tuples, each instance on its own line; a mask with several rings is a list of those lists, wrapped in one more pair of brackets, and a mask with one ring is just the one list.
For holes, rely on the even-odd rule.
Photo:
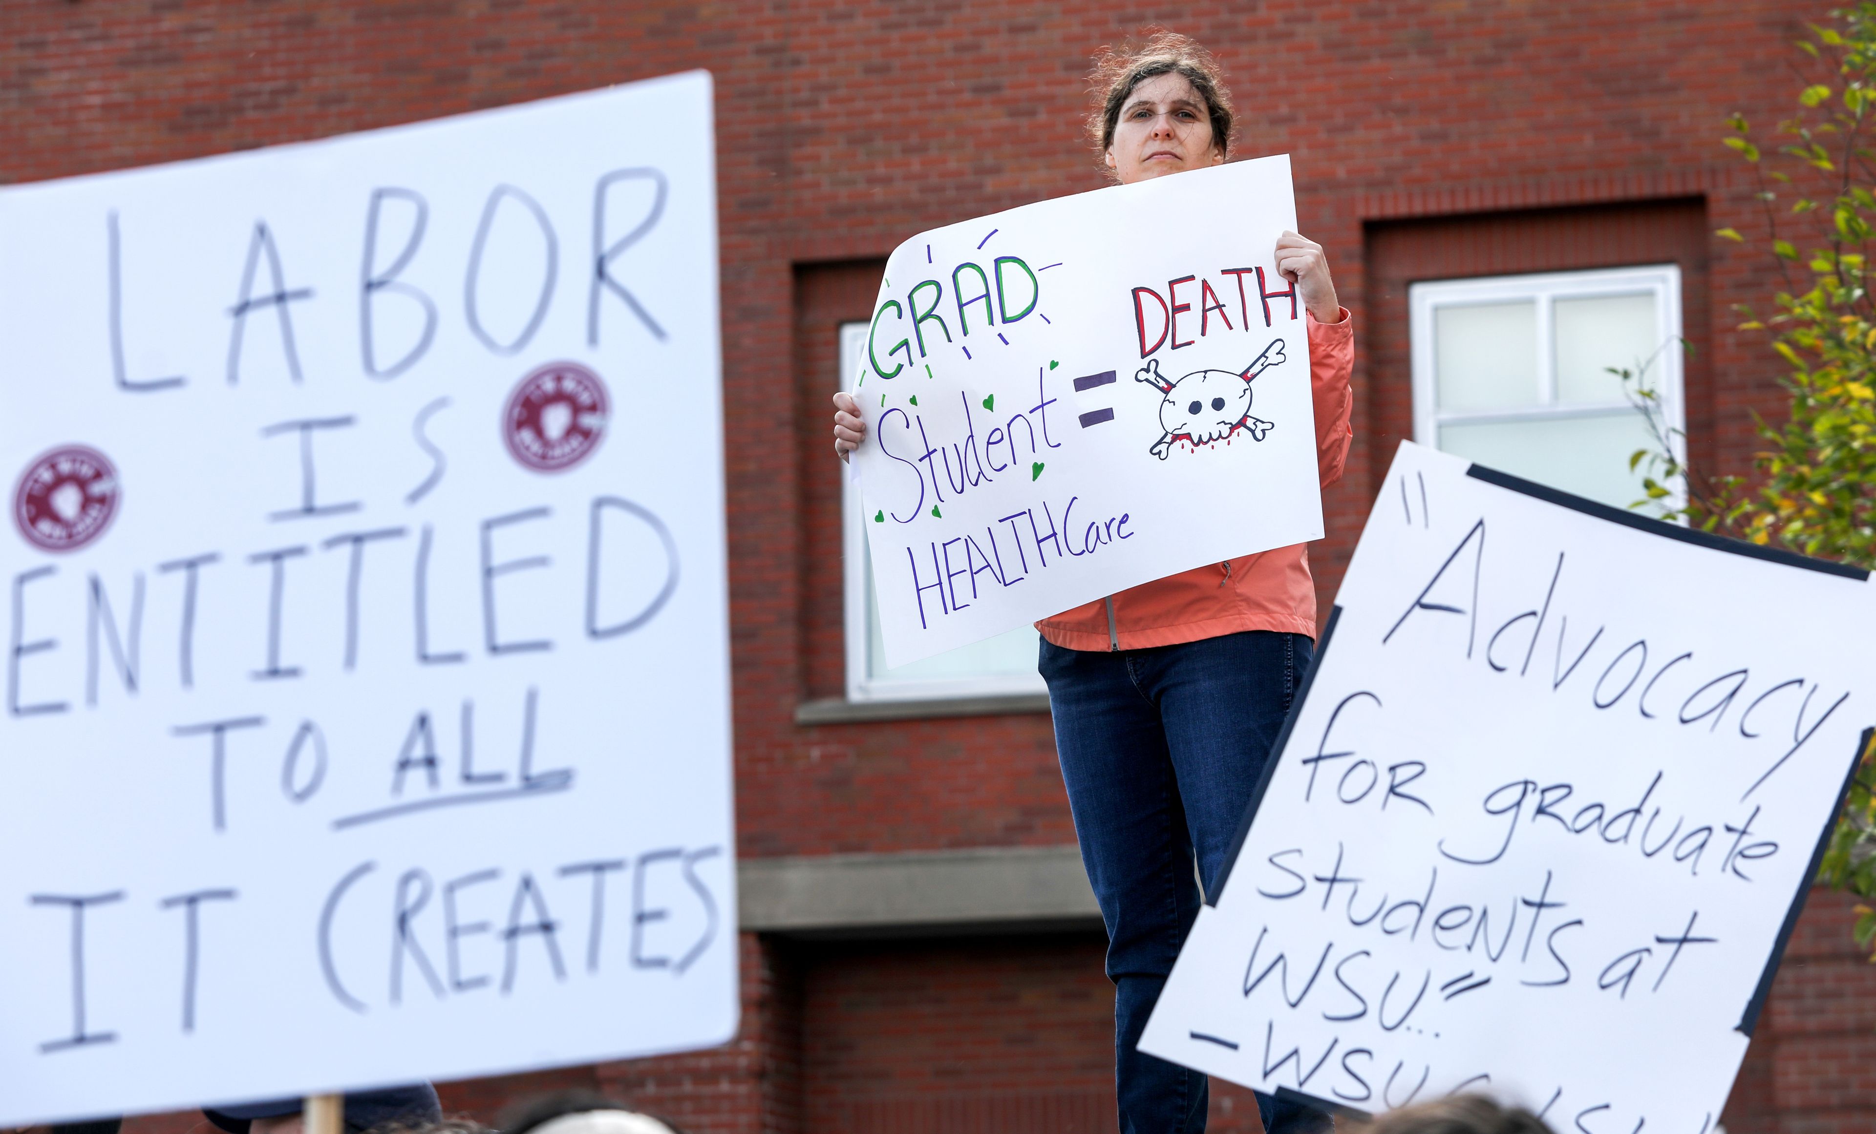
[[(1386, 7), (1281, 0), (1120, 17), (1094, 4), (608, 4), (563, 0), (81, 0), (0, 7), (0, 178), (191, 157), (709, 67), (719, 81), (739, 823), (745, 853), (942, 847), (1062, 838), (1062, 800), (1015, 823), (893, 808), (959, 791), (968, 772), (1034, 761), (1034, 722), (799, 729), (829, 688), (837, 544), (825, 500), (825, 405), (810, 277), (882, 257), (906, 234), (1101, 180), (1079, 135), (1088, 52), (1135, 19), (1174, 19), (1236, 82), (1242, 152), (1296, 157), (1302, 227), (1323, 240), (1364, 345), (1364, 225), (1707, 199), (1709, 223), (1752, 229), (1718, 120), (1788, 99), (1786, 43), (1812, 6), (1611, 0)], [(1777, 81), (1767, 81), (1775, 75)], [(1730, 306), (1763, 296), (1748, 249), (1709, 240), (1713, 437), (1750, 448), (1777, 367), (1735, 336)], [(854, 298), (829, 300), (837, 306)], [(801, 294), (797, 296), (797, 289)], [(839, 291), (839, 289), (835, 289)], [(859, 285), (857, 294), (865, 287)], [(850, 309), (850, 307), (848, 307)], [(825, 321), (820, 322), (825, 326)], [(1366, 362), (1366, 358), (1364, 358)], [(1362, 405), (1379, 375), (1360, 367)], [(1353, 545), (1381, 431), (1356, 418), (1351, 474), (1330, 493), (1324, 581)], [(844, 754), (852, 748), (852, 754)], [(917, 759), (915, 752), (942, 754)], [(824, 765), (837, 757), (839, 772)], [(966, 793), (968, 795), (968, 793)], [(981, 798), (981, 797), (979, 797)], [(1041, 798), (1039, 795), (1036, 797)], [(932, 821), (908, 821), (930, 813)]]

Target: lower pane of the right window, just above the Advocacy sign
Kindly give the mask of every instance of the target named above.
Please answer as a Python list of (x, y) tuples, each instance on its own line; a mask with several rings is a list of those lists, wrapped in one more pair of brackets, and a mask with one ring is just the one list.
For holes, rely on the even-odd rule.
[(1640, 469), (1628, 472), (1628, 455), (1651, 444), (1636, 410), (1439, 427), (1439, 448), (1448, 454), (1617, 508), (1642, 499)]

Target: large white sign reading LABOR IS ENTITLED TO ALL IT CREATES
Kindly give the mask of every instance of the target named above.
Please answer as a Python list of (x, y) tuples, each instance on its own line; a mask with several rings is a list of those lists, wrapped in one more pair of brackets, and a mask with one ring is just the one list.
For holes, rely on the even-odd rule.
[(0, 191), (0, 1127), (734, 1035), (711, 137)]

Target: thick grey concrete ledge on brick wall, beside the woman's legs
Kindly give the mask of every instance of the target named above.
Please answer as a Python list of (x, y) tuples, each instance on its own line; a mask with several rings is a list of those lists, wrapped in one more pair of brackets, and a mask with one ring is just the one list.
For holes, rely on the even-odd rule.
[(1101, 924), (1073, 845), (745, 858), (737, 890), (743, 928), (764, 933), (1007, 933)]

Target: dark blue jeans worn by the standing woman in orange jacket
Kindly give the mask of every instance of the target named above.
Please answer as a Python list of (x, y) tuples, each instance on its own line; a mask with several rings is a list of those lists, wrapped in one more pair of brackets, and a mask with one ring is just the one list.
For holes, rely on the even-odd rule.
[[(1107, 922), (1122, 1134), (1204, 1130), (1206, 1076), (1135, 1046), (1313, 654), (1308, 637), (1268, 630), (1146, 650), (1041, 645), (1062, 780)], [(1332, 1128), (1263, 1093), (1257, 1110), (1268, 1134)]]

